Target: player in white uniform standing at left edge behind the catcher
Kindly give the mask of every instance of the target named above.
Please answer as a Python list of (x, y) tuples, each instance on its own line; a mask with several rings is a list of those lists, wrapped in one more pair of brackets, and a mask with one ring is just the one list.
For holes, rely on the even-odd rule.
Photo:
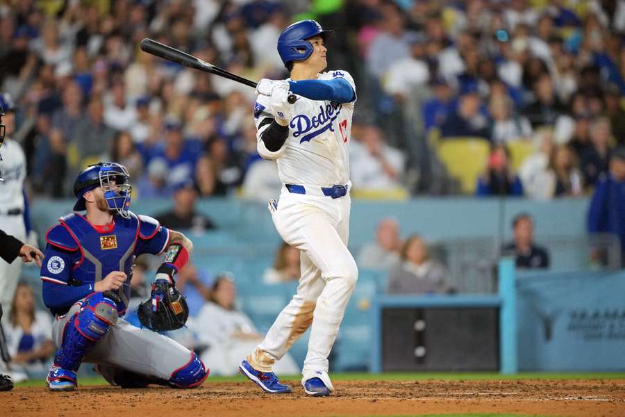
[[(26, 240), (26, 201), (24, 199), (24, 179), (26, 179), (26, 156), (22, 146), (11, 139), (15, 132), (15, 104), (8, 93), (0, 94), (0, 106), (4, 109), (3, 123), (5, 139), (0, 154), (0, 227), (6, 234), (24, 242)], [(17, 288), (22, 262), (7, 263), (0, 260), (0, 304), (6, 316), (10, 313), (11, 302)]]

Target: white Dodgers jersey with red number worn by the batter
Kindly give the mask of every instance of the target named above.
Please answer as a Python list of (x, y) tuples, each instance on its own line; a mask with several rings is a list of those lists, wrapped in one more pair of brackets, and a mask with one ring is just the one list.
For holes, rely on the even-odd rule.
[[(356, 92), (356, 85), (347, 71), (323, 72), (317, 79), (331, 80), (338, 77), (346, 79)], [(324, 187), (347, 184), (354, 103), (341, 104), (298, 97), (293, 104), (289, 136), (281, 149), (271, 152), (260, 139), (269, 124), (260, 124), (265, 118), (274, 116), (268, 109), (269, 97), (258, 95), (254, 105), (258, 153), (265, 159), (277, 160), (278, 175), (283, 183)]]

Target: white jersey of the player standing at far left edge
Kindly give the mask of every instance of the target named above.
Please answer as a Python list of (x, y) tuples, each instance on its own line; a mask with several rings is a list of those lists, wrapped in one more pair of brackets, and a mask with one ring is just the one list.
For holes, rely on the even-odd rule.
[(5, 138), (0, 147), (0, 214), (15, 208), (24, 210), (24, 179), (26, 178), (26, 156), (22, 146), (15, 140)]

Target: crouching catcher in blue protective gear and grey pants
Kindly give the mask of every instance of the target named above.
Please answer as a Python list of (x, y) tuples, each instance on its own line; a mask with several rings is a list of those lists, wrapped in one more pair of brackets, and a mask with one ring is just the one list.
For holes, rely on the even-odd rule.
[(155, 331), (182, 327), (188, 318), (174, 275), (193, 249), (183, 234), (128, 211), (132, 186), (117, 163), (98, 163), (78, 174), (72, 213), (46, 234), (41, 268), (43, 299), (56, 320), (52, 338), (58, 347), (47, 375), (51, 391), (76, 388), (83, 361), (112, 385), (138, 388), (160, 384), (199, 386), (208, 370), (197, 354), (122, 318), (128, 306), (135, 256), (165, 255), (152, 284), (151, 298), (139, 306), (142, 325)]

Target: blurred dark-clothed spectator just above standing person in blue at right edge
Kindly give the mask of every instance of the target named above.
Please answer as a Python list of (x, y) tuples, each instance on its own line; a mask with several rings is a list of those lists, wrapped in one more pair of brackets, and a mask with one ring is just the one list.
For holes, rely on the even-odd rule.
[(584, 183), (594, 186), (601, 175), (608, 174), (610, 164), (610, 121), (599, 117), (590, 125), (590, 147), (580, 156)]

